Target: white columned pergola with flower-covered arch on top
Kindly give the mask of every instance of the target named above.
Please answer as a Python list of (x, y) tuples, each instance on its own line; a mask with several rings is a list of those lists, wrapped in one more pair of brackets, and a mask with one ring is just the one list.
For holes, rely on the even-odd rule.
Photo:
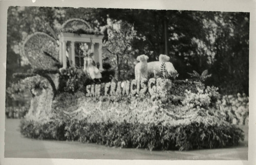
[(82, 42), (88, 44), (89, 49), (94, 52), (94, 61), (98, 62), (99, 69), (103, 70), (102, 38), (102, 33), (93, 30), (89, 23), (82, 19), (74, 18), (64, 22), (59, 36), (59, 61), (63, 64), (63, 68), (67, 68), (68, 60), (71, 66), (82, 67), (83, 56), (75, 53), (75, 43)]

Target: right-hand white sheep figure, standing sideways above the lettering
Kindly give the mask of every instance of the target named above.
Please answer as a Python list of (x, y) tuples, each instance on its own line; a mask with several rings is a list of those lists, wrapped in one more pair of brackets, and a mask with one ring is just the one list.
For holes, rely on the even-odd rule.
[(154, 74), (154, 77), (161, 73), (161, 64), (165, 63), (165, 69), (167, 73), (175, 78), (177, 76), (177, 70), (174, 68), (174, 65), (169, 62), (170, 58), (166, 55), (160, 55), (159, 61), (153, 61), (147, 63), (147, 73), (148, 75)]

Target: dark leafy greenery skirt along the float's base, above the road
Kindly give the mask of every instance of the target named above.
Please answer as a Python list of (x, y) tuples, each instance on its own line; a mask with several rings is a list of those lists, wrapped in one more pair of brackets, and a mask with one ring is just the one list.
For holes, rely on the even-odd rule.
[(235, 125), (218, 123), (206, 126), (163, 126), (154, 124), (89, 123), (86, 119), (70, 119), (40, 123), (22, 120), (20, 131), (30, 138), (78, 140), (109, 147), (148, 148), (150, 150), (191, 150), (238, 145), (243, 131)]

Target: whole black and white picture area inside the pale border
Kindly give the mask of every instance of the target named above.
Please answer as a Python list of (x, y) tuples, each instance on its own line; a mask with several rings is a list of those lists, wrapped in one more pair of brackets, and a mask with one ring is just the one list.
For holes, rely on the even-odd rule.
[(6, 15), (4, 158), (248, 161), (249, 11)]

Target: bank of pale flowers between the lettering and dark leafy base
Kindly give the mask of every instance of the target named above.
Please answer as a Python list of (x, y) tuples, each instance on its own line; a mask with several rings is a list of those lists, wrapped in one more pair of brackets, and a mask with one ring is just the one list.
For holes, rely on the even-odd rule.
[[(166, 82), (168, 81), (159, 81), (163, 86), (166, 85)], [(110, 85), (108, 86), (111, 88)], [(166, 92), (166, 90), (163, 90), (163, 93), (164, 92)], [(196, 94), (201, 95), (201, 93), (204, 94), (202, 95), (203, 98), (205, 95), (209, 95), (206, 90), (203, 92), (199, 90)], [(78, 103), (80, 104), (80, 107), (86, 107), (81, 111), (82, 115), (79, 115), (80, 117), (77, 115), (73, 117), (76, 119), (78, 117), (79, 120), (87, 119), (89, 123), (122, 123), (123, 121), (126, 121), (127, 123), (154, 124), (156, 126), (161, 124), (163, 126), (169, 125), (172, 127), (181, 124), (189, 125), (193, 122), (204, 123), (206, 126), (210, 126), (212, 123), (217, 123), (218, 125), (227, 124), (223, 116), (215, 113), (215, 111), (217, 111), (216, 108), (211, 107), (211, 104), (209, 104), (208, 101), (205, 102), (205, 104), (208, 105), (207, 107), (205, 104), (202, 104), (202, 107), (190, 105), (197, 104), (196, 101), (193, 101), (193, 103), (190, 104), (185, 104), (188, 100), (193, 100), (191, 99), (191, 93), (189, 92), (184, 99), (186, 100), (184, 104), (179, 106), (169, 104), (169, 102), (162, 100), (163, 98), (161, 97), (161, 94), (159, 94), (159, 91), (154, 95), (158, 95), (158, 97), (155, 97), (157, 99), (153, 100), (152, 97), (143, 97), (143, 99), (140, 99), (140, 97), (133, 97), (130, 95), (129, 97), (126, 97), (126, 99), (118, 102), (99, 100), (97, 101), (97, 104), (95, 104), (94, 98), (85, 97), (83, 98), (85, 100), (81, 100), (80, 103)], [(106, 96), (101, 96), (100, 98), (103, 99), (104, 97)], [(164, 98), (166, 98), (166, 96)], [(199, 99), (205, 101), (203, 98)], [(209, 97), (206, 98), (209, 99)], [(194, 97), (194, 100), (195, 99), (198, 99), (197, 96)], [(210, 100), (210, 102), (211, 101), (212, 100)]]

